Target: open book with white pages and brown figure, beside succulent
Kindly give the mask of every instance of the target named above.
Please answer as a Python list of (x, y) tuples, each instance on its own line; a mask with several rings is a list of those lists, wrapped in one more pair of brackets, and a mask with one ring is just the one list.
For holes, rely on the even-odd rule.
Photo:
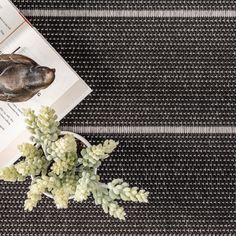
[[(23, 108), (32, 108), (37, 112), (42, 105), (51, 106), (61, 119), (84, 99), (91, 89), (8, 0), (0, 1), (0, 54), (1, 168), (16, 161), (20, 156), (17, 145), (28, 141), (29, 134), (25, 128)], [(8, 61), (3, 60), (5, 64), (1, 64), (3, 54), (27, 56), (29, 58), (26, 60), (28, 64), (26, 67), (24, 64), (19, 66), (18, 58), (16, 60), (15, 57), (12, 59), (9, 56), (4, 59)], [(19, 61), (22, 60), (24, 61), (25, 58), (20, 56)], [(18, 71), (12, 71), (12, 68), (11, 71), (9, 70), (9, 65), (12, 63), (18, 66)], [(31, 94), (31, 96), (26, 94), (20, 99), (16, 97), (14, 102), (12, 102), (14, 91), (9, 95), (7, 93), (1, 95), (1, 89), (3, 90), (9, 85), (8, 78), (15, 83), (14, 86), (18, 86), (19, 82), (16, 75), (27, 77), (29, 74), (35, 75), (37, 72), (37, 75), (41, 76), (40, 79), (44, 79), (44, 74), (41, 73), (44, 73), (42, 71), (45, 70), (45, 67), (46, 70), (48, 68), (53, 79), (51, 78), (52, 80), (47, 86), (41, 86), (42, 89), (34, 90), (35, 94)], [(5, 81), (3, 81), (4, 79)], [(28, 78), (23, 79), (22, 81), (26, 81)], [(12, 85), (12, 81), (10, 85)], [(30, 86), (27, 89), (32, 91)]]

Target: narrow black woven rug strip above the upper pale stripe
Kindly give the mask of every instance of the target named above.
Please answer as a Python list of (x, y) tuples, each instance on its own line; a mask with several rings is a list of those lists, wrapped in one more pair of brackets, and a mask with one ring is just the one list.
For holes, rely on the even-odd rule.
[(13, 0), (20, 8), (60, 9), (236, 9), (234, 0)]

